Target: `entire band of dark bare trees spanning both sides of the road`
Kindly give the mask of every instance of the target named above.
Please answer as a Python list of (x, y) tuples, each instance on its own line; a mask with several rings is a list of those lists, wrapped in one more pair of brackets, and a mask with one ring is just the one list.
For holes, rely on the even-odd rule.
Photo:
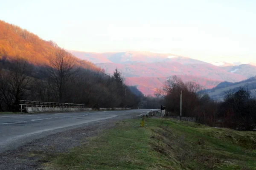
[(252, 130), (256, 125), (256, 99), (247, 88), (227, 92), (223, 102), (212, 100), (194, 82), (174, 76), (157, 97), (145, 97), (135, 86), (125, 84), (119, 70), (107, 75), (95, 66), (84, 68), (63, 48), (55, 46), (48, 64), (33, 65), (24, 57), (0, 60), (0, 111), (18, 111), (19, 100), (69, 102), (88, 108), (160, 108), (172, 115), (194, 116), (210, 126)]

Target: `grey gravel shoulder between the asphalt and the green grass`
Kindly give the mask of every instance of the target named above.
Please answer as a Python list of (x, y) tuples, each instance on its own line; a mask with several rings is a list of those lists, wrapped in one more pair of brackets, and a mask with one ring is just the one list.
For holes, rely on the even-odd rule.
[(132, 118), (135, 115), (137, 113), (90, 122), (84, 124), (83, 127), (35, 139), (17, 149), (0, 153), (0, 169), (40, 170), (45, 156), (55, 156), (55, 154), (67, 152), (70, 148), (86, 142), (87, 137), (96, 136), (100, 131), (112, 128), (116, 121)]

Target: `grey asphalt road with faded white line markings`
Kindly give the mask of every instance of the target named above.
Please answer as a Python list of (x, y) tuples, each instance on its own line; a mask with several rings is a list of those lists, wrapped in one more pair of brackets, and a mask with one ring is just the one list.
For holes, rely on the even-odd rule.
[(49, 134), (81, 127), (89, 122), (146, 111), (149, 110), (1, 115), (0, 152), (15, 149)]

